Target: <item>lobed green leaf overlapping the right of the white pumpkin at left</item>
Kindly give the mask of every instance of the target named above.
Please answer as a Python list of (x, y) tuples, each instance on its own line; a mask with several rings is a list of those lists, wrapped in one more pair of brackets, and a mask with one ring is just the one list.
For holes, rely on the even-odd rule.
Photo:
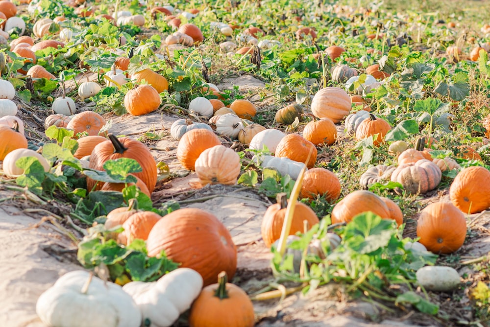
[(31, 192), (40, 195), (43, 192), (41, 186), (46, 173), (43, 165), (36, 157), (21, 157), (17, 159), (15, 165), (24, 169), (24, 174), (17, 177), (16, 182), (22, 187), (27, 187)]

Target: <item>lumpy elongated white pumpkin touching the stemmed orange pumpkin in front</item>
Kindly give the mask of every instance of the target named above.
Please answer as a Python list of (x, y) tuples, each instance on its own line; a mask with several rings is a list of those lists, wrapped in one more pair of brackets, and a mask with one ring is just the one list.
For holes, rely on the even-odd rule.
[(186, 311), (202, 288), (201, 275), (191, 268), (178, 268), (154, 282), (132, 281), (123, 290), (133, 297), (143, 320), (150, 327), (168, 327)]

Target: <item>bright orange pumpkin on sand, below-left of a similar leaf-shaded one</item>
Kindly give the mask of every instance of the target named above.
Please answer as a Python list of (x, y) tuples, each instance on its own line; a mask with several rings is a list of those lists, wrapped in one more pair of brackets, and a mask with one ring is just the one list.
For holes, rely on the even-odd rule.
[(124, 107), (133, 116), (151, 113), (160, 107), (160, 94), (151, 85), (140, 85), (124, 95)]

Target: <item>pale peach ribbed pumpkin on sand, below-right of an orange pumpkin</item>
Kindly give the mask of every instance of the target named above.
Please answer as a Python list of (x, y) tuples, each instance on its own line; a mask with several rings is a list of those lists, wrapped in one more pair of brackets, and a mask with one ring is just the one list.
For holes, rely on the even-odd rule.
[(202, 185), (234, 185), (240, 175), (240, 156), (230, 148), (215, 145), (202, 151), (195, 168)]

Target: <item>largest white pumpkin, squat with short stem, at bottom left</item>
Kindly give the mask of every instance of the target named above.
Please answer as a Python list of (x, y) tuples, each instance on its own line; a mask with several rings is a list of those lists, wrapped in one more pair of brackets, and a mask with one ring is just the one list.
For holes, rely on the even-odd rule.
[(141, 312), (131, 296), (91, 276), (84, 270), (69, 272), (41, 294), (36, 304), (41, 321), (56, 327), (139, 327)]

